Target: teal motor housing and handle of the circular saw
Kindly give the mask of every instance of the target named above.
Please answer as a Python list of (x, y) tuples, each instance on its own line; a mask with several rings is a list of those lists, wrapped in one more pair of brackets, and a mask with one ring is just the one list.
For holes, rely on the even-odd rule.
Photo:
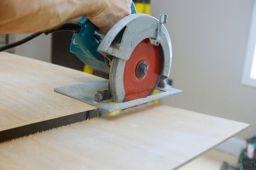
[[(133, 2), (131, 10), (132, 13), (137, 13)], [(70, 51), (88, 66), (109, 73), (110, 66), (106, 64), (104, 56), (97, 51), (99, 41), (93, 34), (98, 34), (101, 38), (105, 35), (95, 32), (96, 26), (86, 16), (82, 17), (78, 23), (81, 24), (81, 30), (74, 33)]]

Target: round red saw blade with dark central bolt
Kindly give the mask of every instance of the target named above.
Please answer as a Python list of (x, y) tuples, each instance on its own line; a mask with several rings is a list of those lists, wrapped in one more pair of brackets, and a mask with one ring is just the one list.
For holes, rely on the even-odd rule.
[(161, 47), (141, 41), (124, 68), (125, 101), (144, 98), (152, 94), (162, 72)]

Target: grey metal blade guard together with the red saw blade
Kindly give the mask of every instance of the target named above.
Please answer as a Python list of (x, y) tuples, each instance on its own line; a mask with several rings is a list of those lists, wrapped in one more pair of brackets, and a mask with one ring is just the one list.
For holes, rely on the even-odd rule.
[(166, 19), (164, 14), (160, 20), (143, 13), (128, 15), (99, 44), (97, 51), (112, 59), (109, 86), (114, 102), (147, 97), (169, 76), (171, 40), (162, 25)]

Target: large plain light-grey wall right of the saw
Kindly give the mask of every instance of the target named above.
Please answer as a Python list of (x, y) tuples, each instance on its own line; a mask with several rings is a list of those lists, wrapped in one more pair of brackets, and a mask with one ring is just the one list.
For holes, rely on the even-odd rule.
[[(256, 134), (256, 88), (241, 85), (254, 0), (151, 0), (168, 14), (173, 47), (170, 78), (182, 93), (162, 104), (251, 124)], [(232, 128), (232, 127), (230, 127)]]

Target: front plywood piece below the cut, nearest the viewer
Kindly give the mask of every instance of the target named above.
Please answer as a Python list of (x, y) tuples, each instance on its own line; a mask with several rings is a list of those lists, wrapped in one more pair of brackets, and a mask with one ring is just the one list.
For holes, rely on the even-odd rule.
[(1, 143), (0, 169), (172, 170), (247, 126), (153, 106)]

